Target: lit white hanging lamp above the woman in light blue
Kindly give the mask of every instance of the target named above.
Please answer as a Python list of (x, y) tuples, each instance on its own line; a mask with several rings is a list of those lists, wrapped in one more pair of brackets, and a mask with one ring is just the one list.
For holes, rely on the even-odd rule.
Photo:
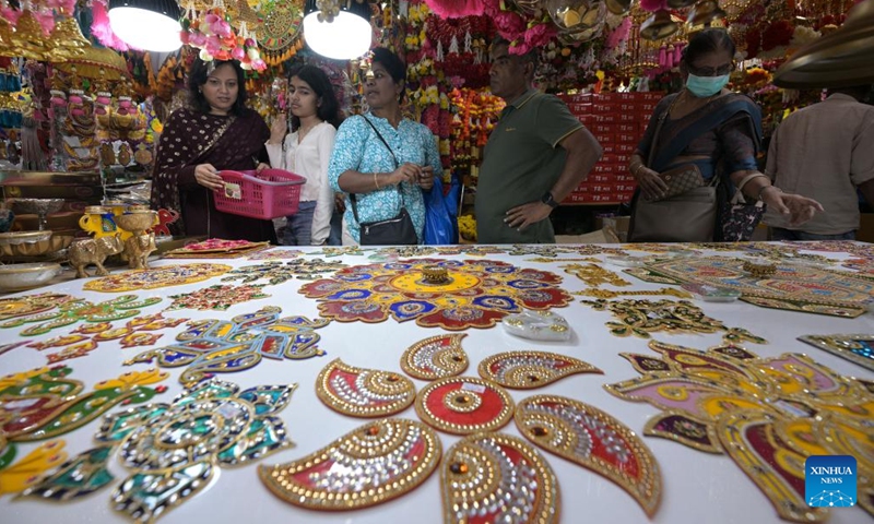
[(370, 49), (367, 0), (307, 0), (304, 13), (304, 39), (319, 55), (351, 60)]

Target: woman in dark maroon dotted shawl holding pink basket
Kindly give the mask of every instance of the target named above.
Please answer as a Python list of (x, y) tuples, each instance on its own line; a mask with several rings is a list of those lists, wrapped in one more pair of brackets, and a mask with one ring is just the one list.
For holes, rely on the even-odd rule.
[(181, 213), (174, 235), (276, 243), (272, 222), (222, 213), (213, 201), (213, 191), (224, 188), (218, 171), (260, 170), (268, 162), (270, 129), (246, 107), (239, 62), (196, 59), (188, 88), (190, 107), (174, 111), (161, 135), (152, 207)]

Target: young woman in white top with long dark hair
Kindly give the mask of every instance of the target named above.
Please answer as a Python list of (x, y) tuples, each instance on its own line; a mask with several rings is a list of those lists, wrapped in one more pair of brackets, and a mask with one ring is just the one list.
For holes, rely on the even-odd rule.
[[(270, 165), (307, 179), (297, 213), (286, 217), (285, 246), (321, 246), (331, 233), (334, 193), (328, 183), (328, 162), (340, 126), (340, 109), (324, 71), (304, 66), (292, 73), (288, 87), (294, 132), (287, 134), (285, 114), (270, 128)], [(283, 138), (285, 139), (283, 141)]]

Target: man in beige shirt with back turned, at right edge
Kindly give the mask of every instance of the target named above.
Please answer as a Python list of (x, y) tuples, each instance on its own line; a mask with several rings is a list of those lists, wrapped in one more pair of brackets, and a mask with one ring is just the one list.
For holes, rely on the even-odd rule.
[(825, 212), (790, 226), (768, 210), (772, 240), (855, 239), (857, 188), (874, 205), (874, 106), (860, 102), (870, 91), (828, 90), (828, 98), (793, 112), (775, 131), (765, 172), (777, 188), (815, 198)]

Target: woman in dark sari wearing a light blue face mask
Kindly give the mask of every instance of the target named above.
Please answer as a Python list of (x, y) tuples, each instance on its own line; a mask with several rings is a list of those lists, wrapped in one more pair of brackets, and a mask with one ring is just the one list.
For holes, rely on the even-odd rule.
[[(732, 198), (740, 187), (747, 202), (763, 201), (790, 217), (792, 224), (802, 224), (816, 211), (823, 211), (814, 200), (781, 192), (758, 171), (756, 154), (761, 139), (761, 112), (753, 100), (725, 88), (734, 68), (734, 43), (720, 28), (696, 33), (684, 49), (680, 70), (685, 87), (664, 97), (656, 107), (628, 166), (638, 183), (628, 237), (631, 241), (722, 240), (720, 224), (727, 219), (724, 216), (717, 216), (712, 233), (707, 234), (710, 238), (684, 238), (692, 233), (683, 225), (640, 226), (635, 235), (636, 223), (643, 222), (636, 221), (639, 199), (661, 201), (669, 190), (675, 193), (676, 188), (669, 187), (666, 177), (660, 175), (677, 170), (697, 168), (705, 186), (717, 186), (721, 202)], [(671, 194), (671, 199), (664, 200), (664, 206), (673, 205), (672, 199), (683, 200), (683, 196)], [(668, 207), (662, 210), (661, 221), (686, 216), (673, 215)], [(681, 218), (675, 218), (677, 216)], [(669, 233), (665, 238), (653, 238), (653, 234), (645, 231), (650, 229)]]

